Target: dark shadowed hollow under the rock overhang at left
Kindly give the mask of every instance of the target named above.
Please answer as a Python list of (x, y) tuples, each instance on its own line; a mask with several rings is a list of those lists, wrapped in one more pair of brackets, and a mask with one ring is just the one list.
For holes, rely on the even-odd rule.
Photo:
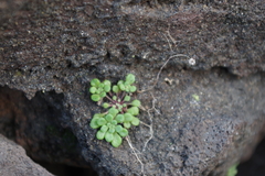
[(86, 167), (77, 139), (59, 120), (67, 116), (62, 99), (63, 95), (38, 92), (29, 100), (22, 91), (0, 87), (0, 133), (34, 160)]

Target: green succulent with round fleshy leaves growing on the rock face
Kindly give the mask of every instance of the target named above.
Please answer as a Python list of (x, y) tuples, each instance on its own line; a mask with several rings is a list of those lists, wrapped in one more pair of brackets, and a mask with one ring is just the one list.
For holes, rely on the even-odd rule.
[(108, 111), (94, 114), (91, 121), (91, 128), (99, 129), (96, 138), (106, 140), (113, 146), (118, 147), (123, 143), (123, 138), (128, 135), (128, 129), (131, 125), (139, 125), (140, 101), (131, 101), (131, 95), (137, 90), (132, 84), (135, 75), (128, 74), (125, 80), (119, 80), (117, 85), (112, 86), (109, 80), (100, 82), (97, 78), (91, 81), (89, 91), (93, 101), (107, 102), (102, 106)]

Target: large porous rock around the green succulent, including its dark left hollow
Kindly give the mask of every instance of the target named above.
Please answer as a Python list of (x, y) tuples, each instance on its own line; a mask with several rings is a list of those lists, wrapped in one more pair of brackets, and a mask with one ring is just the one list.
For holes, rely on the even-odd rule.
[[(1, 133), (35, 160), (98, 175), (219, 176), (264, 134), (263, 0), (0, 4)], [(89, 81), (128, 73), (139, 90), (152, 88), (136, 95), (152, 127), (130, 129), (136, 153), (88, 125), (103, 111)]]

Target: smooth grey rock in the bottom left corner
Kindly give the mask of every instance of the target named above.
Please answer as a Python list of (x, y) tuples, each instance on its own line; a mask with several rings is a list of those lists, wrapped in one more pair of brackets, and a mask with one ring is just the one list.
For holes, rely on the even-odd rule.
[(25, 151), (0, 134), (0, 175), (2, 176), (52, 176), (46, 169), (35, 164)]

